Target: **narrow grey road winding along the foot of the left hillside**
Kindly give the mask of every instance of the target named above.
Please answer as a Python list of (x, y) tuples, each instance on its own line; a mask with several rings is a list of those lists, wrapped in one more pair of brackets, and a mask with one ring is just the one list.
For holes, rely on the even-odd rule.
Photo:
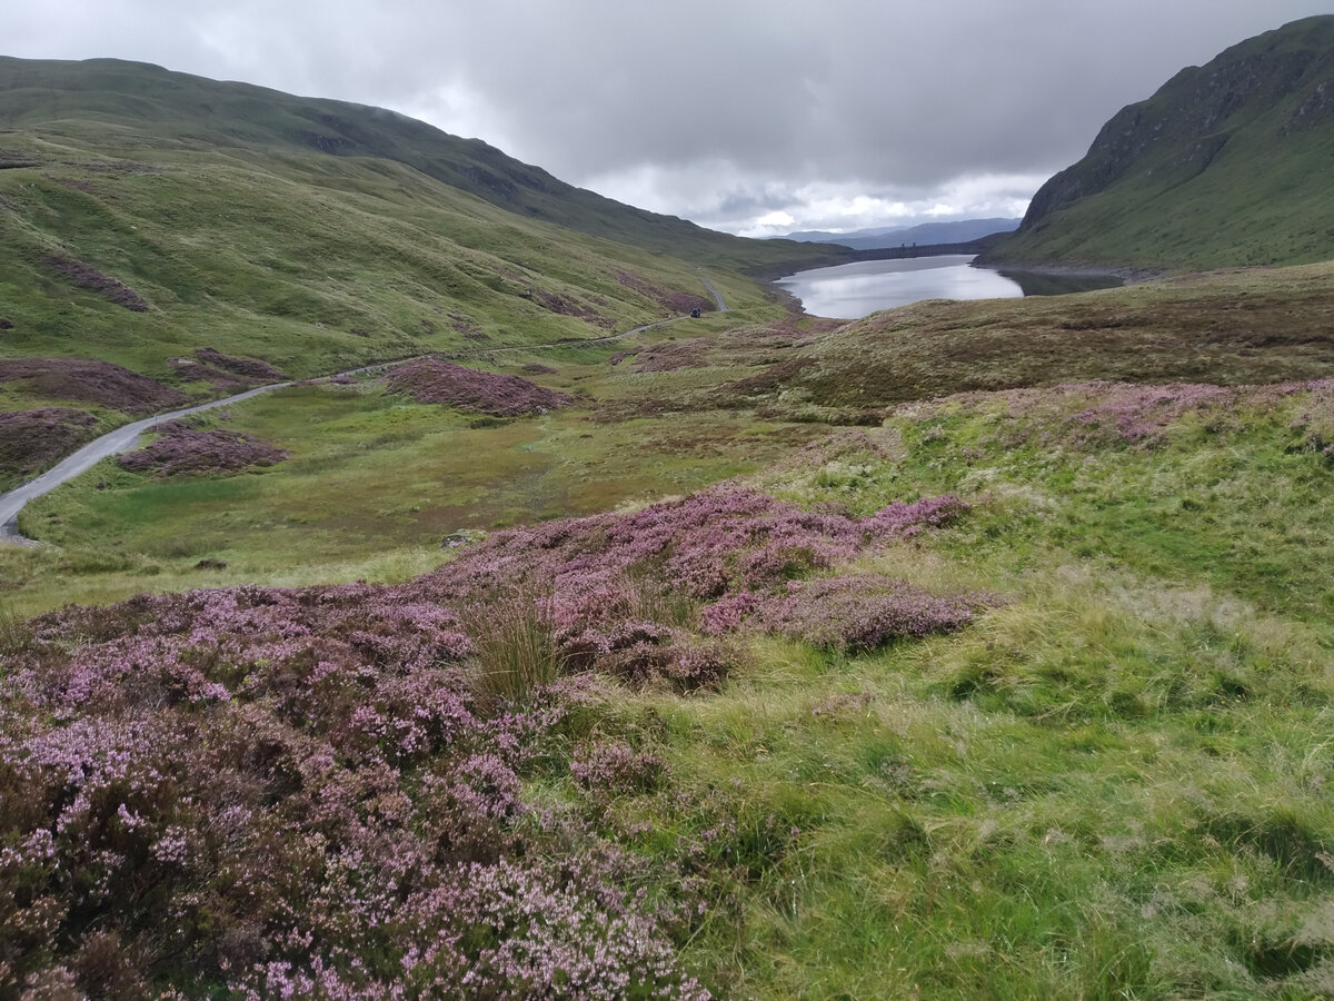
[[(718, 311), (727, 312), (727, 304), (723, 302), (723, 296), (714, 288), (712, 283), (700, 275), (700, 282), (704, 287), (714, 295), (718, 300)], [(476, 351), (467, 351), (463, 354), (435, 354), (435, 355), (422, 355), (422, 356), (436, 356), (436, 358), (483, 358), (486, 355), (494, 355), (500, 351), (534, 351), (544, 347), (572, 347), (579, 344), (603, 344), (610, 340), (619, 340), (620, 338), (628, 338), (632, 334), (642, 334), (652, 327), (663, 327), (668, 323), (678, 323), (679, 320), (688, 319), (686, 316), (674, 316), (668, 320), (658, 320), (656, 323), (644, 323), (643, 326), (635, 327), (634, 330), (627, 330), (620, 334), (610, 334), (604, 338), (587, 338), (587, 339), (574, 339), (574, 340), (555, 340), (550, 344), (514, 344), (511, 347), (492, 347), (480, 348)], [(358, 375), (360, 372), (367, 372), (375, 368), (387, 368), (391, 364), (402, 364), (403, 362), (411, 362), (414, 359), (406, 358), (399, 362), (382, 362), (376, 364), (363, 366), (362, 368), (350, 368), (343, 372), (335, 372), (332, 376), (338, 378), (340, 375)], [(225, 396), (224, 399), (209, 400), (208, 403), (197, 403), (192, 407), (183, 407), (181, 410), (172, 410), (165, 414), (155, 414), (151, 418), (144, 418), (141, 420), (135, 420), (129, 424), (123, 424), (115, 431), (108, 431), (101, 438), (93, 439), (79, 451), (63, 459), (56, 466), (43, 472), (40, 476), (29, 479), (23, 486), (17, 486), (13, 490), (0, 494), (0, 543), (12, 543), (19, 546), (36, 546), (39, 545), (33, 539), (29, 539), (21, 531), (19, 531), (19, 513), (27, 506), (29, 500), (35, 500), (43, 494), (49, 494), (52, 490), (59, 487), (61, 483), (77, 476), (80, 472), (87, 472), (89, 468), (96, 466), (103, 459), (111, 455), (120, 455), (121, 452), (128, 452), (139, 443), (139, 436), (148, 431), (156, 424), (165, 420), (175, 420), (177, 418), (187, 416), (189, 414), (197, 414), (204, 410), (213, 410), (215, 407), (225, 407), (229, 403), (239, 403), (243, 399), (249, 399), (251, 396), (257, 396), (261, 392), (268, 392), (269, 390), (280, 390), (284, 386), (291, 386), (291, 382), (275, 382), (268, 386), (256, 386), (253, 390), (245, 390), (245, 392), (237, 392), (235, 396)]]

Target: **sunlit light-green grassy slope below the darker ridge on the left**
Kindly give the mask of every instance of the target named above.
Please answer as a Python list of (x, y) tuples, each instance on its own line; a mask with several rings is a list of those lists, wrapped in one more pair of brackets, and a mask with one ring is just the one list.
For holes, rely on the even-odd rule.
[[(683, 262), (520, 219), (398, 164), (139, 151), (152, 161), (87, 165), (51, 137), (27, 148), (43, 167), (0, 174), (8, 356), (77, 350), (167, 378), (169, 356), (213, 346), (304, 376), (663, 315), (618, 272), (706, 291)], [(43, 263), (57, 248), (152, 308), (75, 288)], [(739, 306), (760, 300), (722, 280)]]

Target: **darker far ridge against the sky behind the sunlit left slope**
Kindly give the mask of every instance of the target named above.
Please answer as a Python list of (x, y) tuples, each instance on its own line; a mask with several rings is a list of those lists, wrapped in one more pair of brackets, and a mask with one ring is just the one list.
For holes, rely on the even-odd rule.
[(510, 212), (676, 256), (746, 267), (819, 254), (614, 202), (479, 139), (460, 139), (398, 112), (220, 83), (147, 63), (0, 56), (0, 128), (60, 128), (80, 137), (185, 148), (375, 157), (412, 167)]

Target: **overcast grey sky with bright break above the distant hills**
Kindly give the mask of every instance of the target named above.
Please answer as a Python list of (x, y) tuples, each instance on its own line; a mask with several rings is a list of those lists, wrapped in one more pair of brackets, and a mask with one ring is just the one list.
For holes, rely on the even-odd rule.
[(1022, 215), (1121, 107), (1331, 0), (47, 0), (0, 55), (394, 108), (744, 235)]

